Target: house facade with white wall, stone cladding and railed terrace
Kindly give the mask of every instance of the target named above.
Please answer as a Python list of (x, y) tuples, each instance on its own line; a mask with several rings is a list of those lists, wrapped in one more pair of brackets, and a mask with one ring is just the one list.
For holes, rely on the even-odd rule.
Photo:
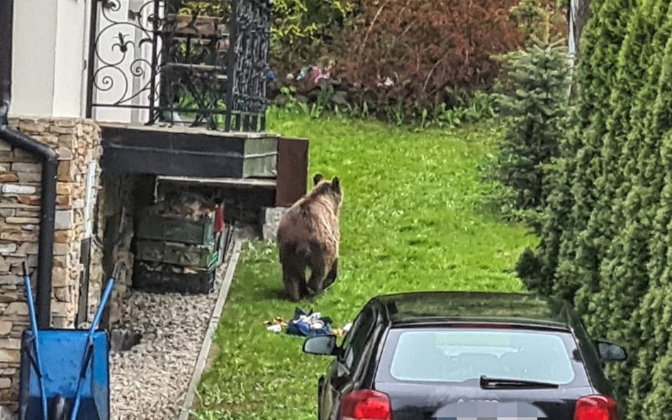
[(209, 14), (180, 0), (0, 3), (0, 406), (8, 412), (18, 404), (28, 328), (23, 262), (41, 328), (89, 322), (117, 266), (113, 322), (132, 284), (134, 209), (159, 181), (244, 186), (233, 200), (264, 188), (264, 208), (306, 191), (308, 142), (265, 127), (269, 1), (212, 3)]

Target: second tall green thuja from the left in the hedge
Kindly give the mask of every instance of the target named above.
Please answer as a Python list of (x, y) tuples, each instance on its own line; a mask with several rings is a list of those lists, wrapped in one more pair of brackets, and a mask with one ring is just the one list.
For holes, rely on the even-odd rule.
[[(580, 295), (592, 293), (596, 289), (598, 278), (595, 267), (595, 249), (582, 234), (590, 220), (590, 210), (595, 206), (597, 194), (595, 181), (602, 171), (601, 149), (607, 131), (610, 89), (615, 85), (619, 46), (627, 33), (627, 19), (631, 14), (633, 0), (607, 0), (593, 4), (593, 16), (596, 24), (591, 25), (594, 32), (593, 43), (584, 42), (583, 52), (590, 49), (586, 73), (586, 84), (580, 85), (581, 106), (577, 119), (581, 127), (576, 135), (581, 147), (575, 155), (575, 167), (571, 175), (571, 194), (573, 207), (571, 224), (565, 233), (566, 240), (561, 244), (561, 261), (556, 276), (566, 293)], [(597, 8), (599, 6), (599, 8)], [(585, 127), (585, 128), (584, 128)], [(588, 245), (588, 246), (583, 246)], [(577, 300), (578, 309), (585, 312), (583, 300)]]

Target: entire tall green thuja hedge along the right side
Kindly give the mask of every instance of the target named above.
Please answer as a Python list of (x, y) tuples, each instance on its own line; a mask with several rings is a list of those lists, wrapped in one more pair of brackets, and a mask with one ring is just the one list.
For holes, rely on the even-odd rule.
[(575, 130), (549, 176), (539, 246), (517, 268), (627, 346), (629, 362), (609, 370), (627, 419), (672, 419), (672, 4), (591, 9)]

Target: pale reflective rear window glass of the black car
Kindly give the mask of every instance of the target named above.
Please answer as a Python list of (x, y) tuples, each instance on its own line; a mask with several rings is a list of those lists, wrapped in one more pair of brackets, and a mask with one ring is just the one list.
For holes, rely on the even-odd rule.
[(390, 374), (401, 381), (465, 382), (485, 375), (564, 385), (575, 375), (568, 338), (521, 329), (403, 331)]

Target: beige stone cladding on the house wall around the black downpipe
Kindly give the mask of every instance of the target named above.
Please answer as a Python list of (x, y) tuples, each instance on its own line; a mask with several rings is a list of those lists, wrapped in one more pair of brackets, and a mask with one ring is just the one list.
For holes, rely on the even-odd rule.
[[(93, 220), (98, 191), (100, 130), (91, 120), (72, 118), (20, 118), (11, 120), (11, 126), (58, 155), (52, 324), (74, 327), (85, 217)], [(21, 263), (27, 261), (34, 271), (35, 290), (41, 170), (30, 154), (0, 142), (0, 405), (13, 408), (18, 402), (20, 339), (28, 328)], [(93, 183), (87, 183), (87, 173)]]

